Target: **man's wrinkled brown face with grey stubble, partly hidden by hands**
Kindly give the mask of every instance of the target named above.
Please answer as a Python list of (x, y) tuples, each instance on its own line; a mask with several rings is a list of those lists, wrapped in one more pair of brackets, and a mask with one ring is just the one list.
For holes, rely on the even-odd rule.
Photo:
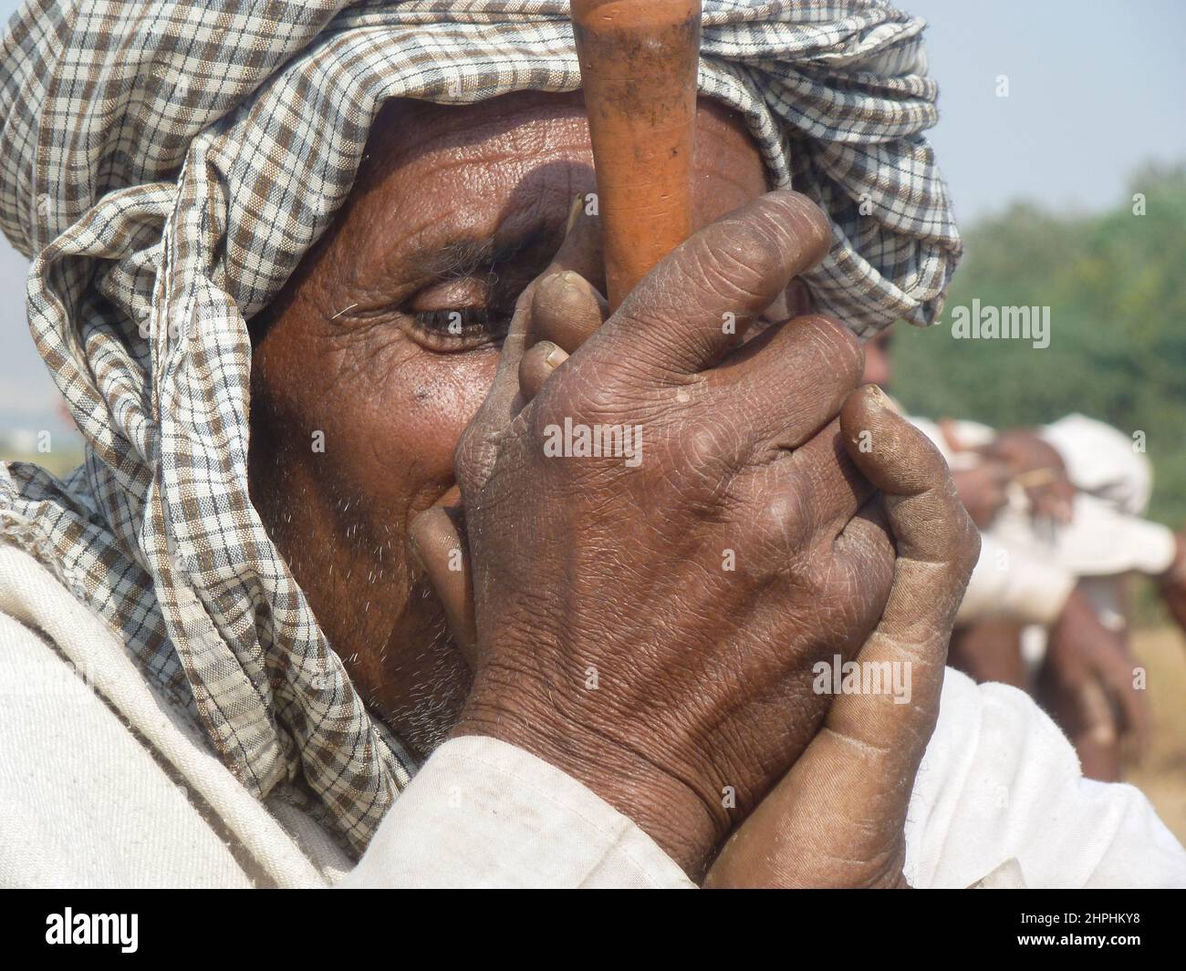
[[(740, 120), (702, 102), (697, 224), (766, 187)], [(389, 102), (333, 229), (253, 321), (253, 502), (363, 697), (420, 754), (468, 669), (408, 523), (453, 485), (515, 300), (593, 191), (579, 92)]]

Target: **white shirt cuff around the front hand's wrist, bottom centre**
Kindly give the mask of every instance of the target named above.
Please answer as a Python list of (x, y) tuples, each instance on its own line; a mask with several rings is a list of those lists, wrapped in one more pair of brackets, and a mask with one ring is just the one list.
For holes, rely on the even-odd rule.
[(496, 739), (438, 748), (343, 887), (694, 887), (635, 823)]

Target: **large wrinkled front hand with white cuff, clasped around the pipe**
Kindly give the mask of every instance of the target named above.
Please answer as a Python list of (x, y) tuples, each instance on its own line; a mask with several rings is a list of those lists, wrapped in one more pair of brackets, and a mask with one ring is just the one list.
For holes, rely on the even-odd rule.
[[(829, 243), (803, 197), (750, 203), (524, 407), (529, 289), (454, 460), (478, 639), (454, 734), (566, 771), (693, 877), (818, 729), (812, 665), (850, 658), (890, 590), (893, 547), (837, 419), (856, 340), (820, 317), (741, 339)], [(640, 464), (547, 456), (566, 420), (640, 427)]]

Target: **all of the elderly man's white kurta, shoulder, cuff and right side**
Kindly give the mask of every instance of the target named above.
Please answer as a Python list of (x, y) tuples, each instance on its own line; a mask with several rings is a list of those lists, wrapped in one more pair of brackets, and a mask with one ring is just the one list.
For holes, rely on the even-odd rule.
[[(103, 621), (4, 544), (0, 696), (2, 886), (690, 886), (585, 786), (472, 737), (432, 755), (347, 875), (310, 815), (251, 799)], [(955, 671), (906, 845), (918, 887), (1186, 886), (1137, 790), (1083, 779), (1027, 696)]]

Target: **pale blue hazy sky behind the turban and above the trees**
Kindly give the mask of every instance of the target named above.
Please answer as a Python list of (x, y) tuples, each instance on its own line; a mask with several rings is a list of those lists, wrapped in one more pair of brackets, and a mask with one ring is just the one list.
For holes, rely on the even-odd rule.
[[(0, 0), (0, 18), (17, 8)], [(968, 221), (1027, 198), (1093, 210), (1146, 161), (1186, 160), (1182, 0), (903, 0), (930, 23), (932, 132)], [(1008, 97), (997, 97), (999, 76)], [(25, 261), (0, 238), (0, 429), (60, 426), (24, 312)]]

